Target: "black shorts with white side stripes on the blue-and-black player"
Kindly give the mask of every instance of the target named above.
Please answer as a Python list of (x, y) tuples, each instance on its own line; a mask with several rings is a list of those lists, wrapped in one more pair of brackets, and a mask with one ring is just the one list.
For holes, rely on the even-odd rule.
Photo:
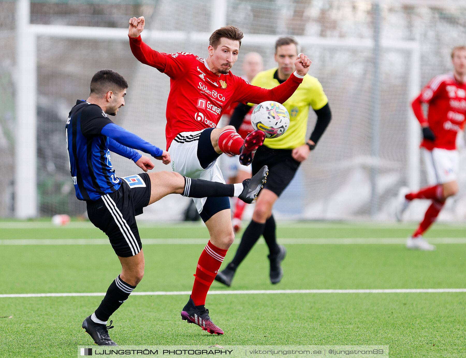
[(143, 213), (151, 199), (151, 178), (147, 173), (126, 176), (120, 188), (100, 199), (87, 202), (89, 220), (110, 239), (120, 257), (137, 255), (142, 243), (136, 216)]

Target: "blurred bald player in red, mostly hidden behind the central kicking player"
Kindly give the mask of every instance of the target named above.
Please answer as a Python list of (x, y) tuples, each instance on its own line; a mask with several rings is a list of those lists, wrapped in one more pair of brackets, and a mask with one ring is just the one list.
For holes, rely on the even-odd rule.
[[(264, 61), (262, 60), (262, 56), (257, 52), (248, 52), (244, 56), (243, 62), (243, 73), (245, 80), (251, 82), (254, 76), (264, 69)], [(233, 114), (234, 109), (238, 103), (234, 103), (231, 109), (229, 110), (228, 119)], [(238, 134), (244, 139), (246, 136), (254, 131), (254, 128), (251, 124), (251, 113), (255, 106), (251, 108), (251, 110), (247, 113), (244, 117), (244, 121), (241, 124), (241, 127), (238, 129)], [(236, 155), (225, 155), (222, 158), (224, 164), (224, 174), (228, 178), (228, 184), (240, 183), (243, 182), (245, 179), (249, 179), (252, 175), (251, 166), (246, 166), (240, 164), (238, 161), (238, 157)], [(235, 200), (234, 210), (233, 210), (233, 231), (236, 233), (241, 230), (241, 217), (243, 216), (244, 208), (246, 207), (246, 203), (242, 200)]]

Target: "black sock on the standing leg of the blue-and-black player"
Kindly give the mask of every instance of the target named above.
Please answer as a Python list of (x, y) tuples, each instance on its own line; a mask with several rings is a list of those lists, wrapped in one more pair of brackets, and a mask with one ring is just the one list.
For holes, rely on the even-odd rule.
[(105, 297), (96, 309), (96, 317), (101, 321), (108, 321), (113, 312), (117, 311), (135, 288), (136, 286), (127, 284), (118, 275), (110, 284)]

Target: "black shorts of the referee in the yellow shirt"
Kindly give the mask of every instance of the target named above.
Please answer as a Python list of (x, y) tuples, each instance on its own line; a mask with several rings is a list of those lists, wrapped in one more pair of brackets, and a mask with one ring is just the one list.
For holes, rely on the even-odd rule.
[(293, 159), (291, 151), (292, 149), (272, 149), (261, 145), (251, 164), (253, 175), (264, 165), (268, 166), (267, 182), (264, 188), (273, 191), (277, 196), (285, 190), (301, 164)]

